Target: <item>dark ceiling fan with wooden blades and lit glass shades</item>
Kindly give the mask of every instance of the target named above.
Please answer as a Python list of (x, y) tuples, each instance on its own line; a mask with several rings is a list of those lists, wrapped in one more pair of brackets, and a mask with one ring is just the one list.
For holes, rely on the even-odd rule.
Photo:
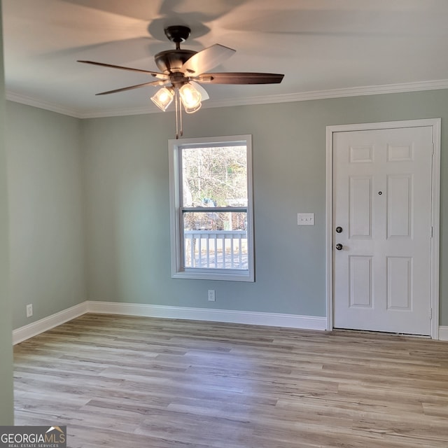
[(155, 80), (148, 83), (130, 85), (120, 89), (100, 92), (97, 95), (124, 92), (125, 90), (138, 89), (147, 85), (160, 86), (151, 100), (162, 111), (166, 111), (169, 104), (174, 100), (176, 103), (176, 139), (183, 134), (181, 104), (186, 113), (198, 111), (202, 105), (201, 100), (209, 99), (207, 91), (200, 84), (274, 84), (281, 83), (283, 74), (278, 73), (250, 73), (250, 72), (230, 72), (230, 73), (208, 73), (221, 62), (228, 59), (235, 53), (232, 48), (225, 47), (218, 43), (204, 48), (199, 52), (181, 49), (181, 43), (190, 36), (190, 28), (175, 25), (165, 28), (165, 35), (176, 44), (174, 50), (165, 50), (155, 55), (155, 64), (160, 69), (158, 71), (148, 71), (133, 69), (113, 64), (103, 64), (102, 62), (78, 60), (85, 64), (110, 67), (139, 73), (148, 73)]

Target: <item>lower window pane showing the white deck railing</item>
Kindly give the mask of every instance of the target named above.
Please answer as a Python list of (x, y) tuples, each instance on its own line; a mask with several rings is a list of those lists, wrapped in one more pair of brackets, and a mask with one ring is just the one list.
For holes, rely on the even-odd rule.
[(248, 269), (247, 213), (183, 213), (186, 268)]

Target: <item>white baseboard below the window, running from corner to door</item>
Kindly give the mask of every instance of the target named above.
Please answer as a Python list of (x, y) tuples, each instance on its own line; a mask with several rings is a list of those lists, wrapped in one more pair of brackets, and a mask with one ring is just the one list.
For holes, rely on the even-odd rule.
[(257, 311), (235, 311), (189, 307), (167, 307), (165, 305), (87, 302), (90, 313), (123, 314), (125, 316), (163, 317), (189, 321), (212, 321), (267, 325), (272, 327), (301, 328), (302, 330), (325, 330), (327, 318), (297, 316), (295, 314), (262, 313)]

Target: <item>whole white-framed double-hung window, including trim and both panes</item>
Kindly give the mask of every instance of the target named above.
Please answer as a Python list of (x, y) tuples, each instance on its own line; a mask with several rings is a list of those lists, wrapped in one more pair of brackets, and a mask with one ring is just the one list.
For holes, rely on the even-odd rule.
[(172, 276), (253, 281), (251, 136), (169, 141)]

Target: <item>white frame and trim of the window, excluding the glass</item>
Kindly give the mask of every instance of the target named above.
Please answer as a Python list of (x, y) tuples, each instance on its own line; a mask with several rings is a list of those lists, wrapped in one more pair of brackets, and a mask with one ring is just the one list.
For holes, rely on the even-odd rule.
[[(169, 144), (169, 210), (171, 235), (171, 273), (174, 279), (255, 281), (254, 240), (253, 240), (253, 171), (252, 136), (250, 134), (225, 137), (202, 137), (190, 139), (170, 139)], [(183, 211), (197, 211), (195, 207), (183, 207), (182, 201), (182, 148), (202, 148), (210, 146), (246, 146), (247, 163), (247, 250), (248, 269), (219, 269), (185, 267), (183, 248)], [(244, 208), (244, 207), (242, 207)], [(241, 207), (219, 207), (219, 211), (236, 211)], [(203, 211), (202, 209), (200, 211)]]

